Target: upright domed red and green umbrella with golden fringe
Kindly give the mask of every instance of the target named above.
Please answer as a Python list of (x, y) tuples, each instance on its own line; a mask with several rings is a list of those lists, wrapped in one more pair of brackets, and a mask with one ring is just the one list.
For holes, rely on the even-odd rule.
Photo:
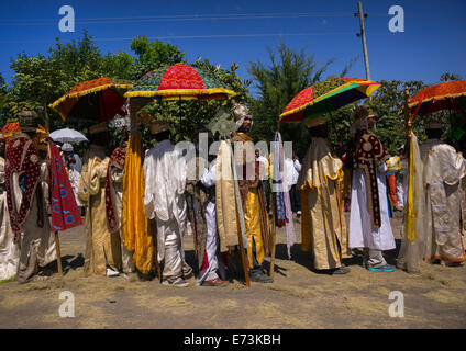
[(212, 72), (185, 64), (149, 71), (124, 94), (156, 100), (214, 100), (234, 95)]

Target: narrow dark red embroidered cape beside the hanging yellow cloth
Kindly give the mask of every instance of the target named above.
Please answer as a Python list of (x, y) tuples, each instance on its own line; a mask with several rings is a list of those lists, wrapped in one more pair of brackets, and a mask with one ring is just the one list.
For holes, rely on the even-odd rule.
[(113, 182), (111, 177), (111, 168), (112, 166), (118, 167), (120, 169), (124, 169), (124, 160), (126, 158), (126, 149), (122, 147), (118, 147), (113, 150), (110, 156), (110, 162), (107, 168), (107, 178), (106, 178), (106, 219), (107, 219), (107, 228), (110, 233), (115, 233), (120, 229), (120, 218), (118, 218), (116, 208), (115, 208), (115, 199), (114, 192), (112, 190)]

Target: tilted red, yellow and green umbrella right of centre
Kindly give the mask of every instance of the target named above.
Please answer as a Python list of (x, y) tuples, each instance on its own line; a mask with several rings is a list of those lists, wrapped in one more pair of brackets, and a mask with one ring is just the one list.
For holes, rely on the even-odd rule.
[(373, 80), (329, 78), (299, 92), (280, 114), (280, 123), (306, 121), (370, 97), (380, 87)]

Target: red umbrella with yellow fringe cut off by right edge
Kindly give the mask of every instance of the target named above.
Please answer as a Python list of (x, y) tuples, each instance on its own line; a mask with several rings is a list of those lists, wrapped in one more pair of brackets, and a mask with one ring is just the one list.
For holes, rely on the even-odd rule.
[(414, 115), (442, 111), (466, 112), (466, 80), (452, 80), (419, 91), (408, 102)]

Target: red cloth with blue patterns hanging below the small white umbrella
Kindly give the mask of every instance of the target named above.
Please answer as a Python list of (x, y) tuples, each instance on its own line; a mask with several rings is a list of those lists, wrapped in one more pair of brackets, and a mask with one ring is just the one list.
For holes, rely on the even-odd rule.
[(81, 225), (82, 220), (59, 149), (52, 140), (48, 147), (52, 230), (63, 231)]

